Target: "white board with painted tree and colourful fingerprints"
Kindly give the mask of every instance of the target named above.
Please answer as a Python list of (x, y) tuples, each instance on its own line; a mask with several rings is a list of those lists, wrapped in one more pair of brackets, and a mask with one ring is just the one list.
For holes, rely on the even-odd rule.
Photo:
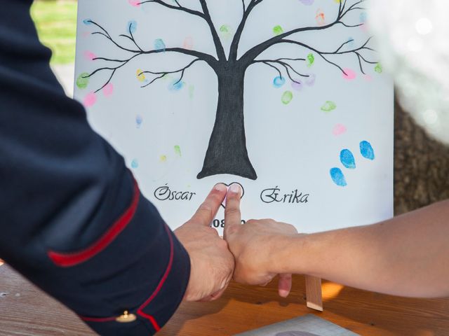
[(382, 221), (393, 85), (365, 4), (79, 0), (74, 95), (171, 228), (219, 182), (243, 186), (243, 220)]

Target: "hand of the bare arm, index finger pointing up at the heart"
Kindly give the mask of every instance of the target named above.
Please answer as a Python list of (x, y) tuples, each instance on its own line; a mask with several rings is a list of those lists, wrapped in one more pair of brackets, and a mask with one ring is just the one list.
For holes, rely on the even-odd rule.
[[(279, 241), (297, 235), (293, 225), (271, 219), (248, 221), (241, 225), (241, 188), (233, 184), (227, 193), (225, 210), (225, 240), (234, 254), (234, 280), (250, 285), (267, 285), (276, 272), (273, 259)], [(274, 244), (276, 242), (276, 244)], [(279, 274), (279, 295), (287, 297), (292, 285), (292, 274)]]

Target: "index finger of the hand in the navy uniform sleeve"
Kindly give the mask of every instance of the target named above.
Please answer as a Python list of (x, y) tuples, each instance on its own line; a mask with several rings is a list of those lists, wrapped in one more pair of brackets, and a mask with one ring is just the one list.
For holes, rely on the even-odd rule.
[(218, 209), (220, 209), (220, 205), (223, 200), (225, 200), (226, 190), (226, 186), (222, 183), (215, 185), (189, 222), (192, 224), (198, 223), (203, 226), (210, 226), (213, 218), (217, 215)]

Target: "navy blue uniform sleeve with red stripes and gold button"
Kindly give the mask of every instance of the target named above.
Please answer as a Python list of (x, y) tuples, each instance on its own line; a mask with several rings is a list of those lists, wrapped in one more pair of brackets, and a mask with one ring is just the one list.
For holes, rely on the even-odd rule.
[(31, 3), (0, 10), (0, 257), (100, 335), (152, 335), (185, 294), (189, 255), (65, 97)]

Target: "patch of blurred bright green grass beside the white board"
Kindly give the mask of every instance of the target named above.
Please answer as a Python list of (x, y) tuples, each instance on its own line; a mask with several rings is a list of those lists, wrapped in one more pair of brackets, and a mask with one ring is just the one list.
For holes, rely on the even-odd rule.
[(53, 50), (53, 65), (75, 60), (76, 8), (76, 0), (35, 0), (32, 5), (39, 38)]

